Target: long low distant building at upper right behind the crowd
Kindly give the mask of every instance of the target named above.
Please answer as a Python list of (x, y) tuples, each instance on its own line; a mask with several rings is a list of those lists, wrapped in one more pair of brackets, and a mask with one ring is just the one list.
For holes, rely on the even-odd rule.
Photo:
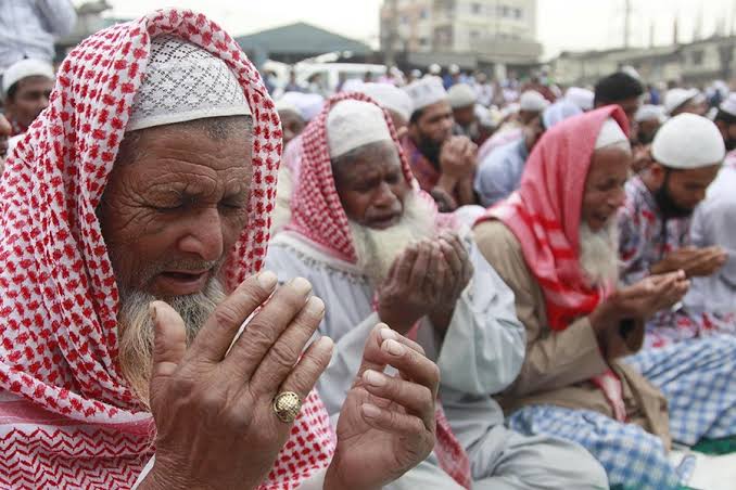
[(735, 55), (735, 36), (713, 36), (687, 44), (563, 52), (550, 66), (563, 85), (593, 85), (624, 65), (636, 68), (646, 82), (705, 85), (734, 78)]

